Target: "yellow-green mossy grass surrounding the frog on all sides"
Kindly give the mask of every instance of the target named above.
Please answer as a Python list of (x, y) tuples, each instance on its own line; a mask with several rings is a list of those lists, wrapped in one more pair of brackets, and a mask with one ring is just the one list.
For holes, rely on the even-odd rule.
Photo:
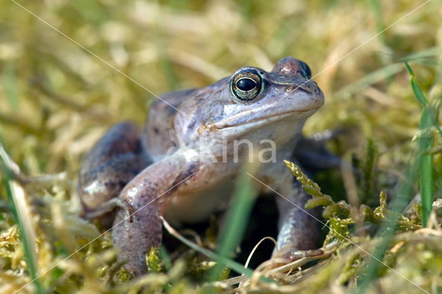
[[(240, 66), (269, 70), (285, 56), (306, 61), (315, 74), (420, 4), (403, 0), (19, 3), (157, 95), (204, 87)], [(330, 195), (321, 204), (329, 207), (322, 220), (430, 293), (442, 288), (442, 213), (432, 206), (433, 200), (442, 198), (438, 122), (442, 26), (435, 13), (439, 10), (441, 4), (430, 1), (318, 75), (315, 81), (326, 102), (305, 126), (307, 135), (345, 130), (327, 146), (362, 170), (361, 178), (355, 179), (356, 192), (340, 184), (339, 170), (316, 175), (320, 193)], [(99, 234), (97, 226), (78, 217), (75, 179), (81, 157), (115, 122), (131, 119), (142, 125), (155, 97), (10, 1), (0, 4), (0, 37), (0, 137), (24, 175), (54, 175), (39, 179), (38, 185), (24, 185), (30, 211), (21, 218), (15, 217), (18, 204), (3, 205), (9, 203), (13, 189), (8, 173), (0, 173), (0, 292), (11, 293)], [(407, 61), (405, 67), (402, 60)], [(66, 176), (55, 177), (61, 172)], [(189, 248), (169, 236), (166, 241), (175, 243), (165, 244), (167, 266), (130, 280), (115, 262), (110, 236), (105, 234), (22, 291), (184, 293), (236, 291), (238, 286), (241, 291), (296, 293), (420, 291), (333, 230), (323, 233), (327, 254), (302, 271), (288, 275), (278, 269), (246, 271), (242, 255), (249, 252), (243, 248), (233, 260), (233, 248), (244, 247), (241, 239), (258, 243), (259, 231), (267, 223), (276, 227), (277, 219), (267, 207), (253, 208), (249, 219), (250, 189), (247, 184), (239, 186), (242, 200), (238, 201), (247, 205), (232, 206), (235, 225), (226, 226), (228, 237), (218, 247), (211, 225), (192, 227), (198, 246), (187, 243), (193, 246)], [(422, 205), (414, 203), (417, 194)], [(353, 206), (349, 199), (355, 195), (358, 205), (365, 206)], [(256, 218), (257, 210), (264, 220)], [(32, 233), (23, 227), (26, 217), (38, 250), (32, 245)], [(264, 248), (260, 246), (253, 259), (265, 260), (271, 254), (271, 248)], [(204, 288), (205, 277), (215, 268), (213, 261), (247, 275), (236, 277), (232, 271), (223, 280), (223, 271), (218, 280), (224, 284)], [(307, 262), (311, 259), (294, 266)], [(260, 282), (264, 273), (278, 285)]]

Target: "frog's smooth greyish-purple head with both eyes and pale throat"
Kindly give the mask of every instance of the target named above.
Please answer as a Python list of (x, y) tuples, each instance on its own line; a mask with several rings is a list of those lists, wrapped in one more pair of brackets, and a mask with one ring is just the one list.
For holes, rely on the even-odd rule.
[(180, 110), (175, 127), (189, 137), (290, 139), (324, 104), (306, 63), (286, 57), (271, 72), (246, 66), (231, 77), (196, 90)]

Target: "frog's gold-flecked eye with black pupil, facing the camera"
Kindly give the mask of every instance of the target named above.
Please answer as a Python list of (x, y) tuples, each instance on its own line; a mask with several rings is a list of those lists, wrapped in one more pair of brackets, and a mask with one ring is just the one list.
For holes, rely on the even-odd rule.
[(232, 77), (230, 90), (241, 101), (250, 101), (262, 92), (262, 84), (262, 77), (256, 70), (241, 70)]

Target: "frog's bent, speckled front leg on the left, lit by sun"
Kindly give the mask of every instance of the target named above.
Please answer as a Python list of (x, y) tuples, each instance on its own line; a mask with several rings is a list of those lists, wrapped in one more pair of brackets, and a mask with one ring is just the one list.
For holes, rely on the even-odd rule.
[(146, 273), (146, 253), (159, 248), (162, 239), (160, 216), (170, 197), (186, 186), (186, 179), (195, 173), (195, 163), (171, 155), (145, 168), (129, 182), (119, 199), (128, 202), (135, 211), (129, 222), (124, 210), (118, 210), (113, 224), (113, 244), (119, 250), (118, 259), (135, 275)]

